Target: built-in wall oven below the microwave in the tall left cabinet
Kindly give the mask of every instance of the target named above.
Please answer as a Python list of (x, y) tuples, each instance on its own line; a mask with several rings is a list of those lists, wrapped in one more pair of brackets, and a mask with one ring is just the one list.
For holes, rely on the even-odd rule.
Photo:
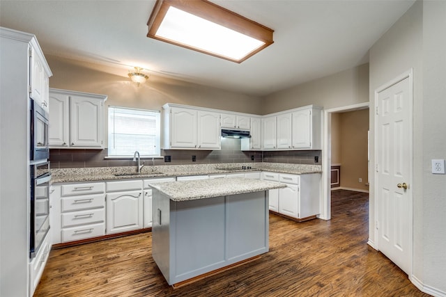
[(49, 231), (49, 161), (31, 165), (31, 228), (29, 257), (36, 256)]

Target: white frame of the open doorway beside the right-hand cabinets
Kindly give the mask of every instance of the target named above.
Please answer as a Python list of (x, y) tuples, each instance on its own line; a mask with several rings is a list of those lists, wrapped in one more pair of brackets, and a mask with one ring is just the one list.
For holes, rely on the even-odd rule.
[[(322, 192), (321, 207), (319, 208), (319, 216), (323, 220), (330, 220), (331, 218), (331, 163), (332, 163), (332, 113), (344, 113), (348, 111), (357, 111), (360, 109), (369, 109), (370, 102), (363, 102), (348, 106), (341, 106), (334, 109), (324, 109), (323, 111), (323, 148), (322, 148)], [(370, 172), (369, 172), (370, 174)]]

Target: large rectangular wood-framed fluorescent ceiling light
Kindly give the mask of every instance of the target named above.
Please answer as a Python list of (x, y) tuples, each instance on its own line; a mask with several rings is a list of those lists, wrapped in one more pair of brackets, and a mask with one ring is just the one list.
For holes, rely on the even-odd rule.
[(206, 0), (157, 0), (147, 37), (241, 63), (271, 45), (272, 29)]

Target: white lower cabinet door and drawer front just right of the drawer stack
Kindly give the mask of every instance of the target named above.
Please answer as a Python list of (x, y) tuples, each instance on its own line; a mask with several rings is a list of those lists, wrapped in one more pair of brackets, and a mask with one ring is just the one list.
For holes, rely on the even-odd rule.
[(142, 180), (107, 182), (107, 234), (142, 229)]

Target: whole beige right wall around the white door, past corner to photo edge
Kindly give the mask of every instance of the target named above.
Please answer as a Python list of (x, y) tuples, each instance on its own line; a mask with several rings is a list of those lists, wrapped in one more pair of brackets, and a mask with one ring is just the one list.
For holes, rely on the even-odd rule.
[[(413, 70), (413, 271), (409, 277), (434, 289), (438, 296), (446, 292), (446, 175), (431, 174), (431, 159), (446, 159), (445, 28), (446, 1), (419, 0), (370, 49), (371, 147), (374, 90)], [(373, 176), (370, 179), (373, 184)], [(371, 240), (375, 230), (373, 190)]]

